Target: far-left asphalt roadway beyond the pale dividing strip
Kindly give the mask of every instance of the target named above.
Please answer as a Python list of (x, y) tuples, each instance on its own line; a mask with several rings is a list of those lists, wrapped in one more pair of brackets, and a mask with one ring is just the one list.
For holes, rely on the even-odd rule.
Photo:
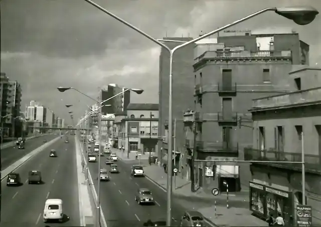
[(25, 149), (18, 149), (18, 146), (9, 147), (5, 149), (1, 149), (1, 167), (2, 170), (6, 169), (8, 166), (12, 165), (22, 157), (24, 157), (26, 154), (32, 152), (36, 148), (40, 147), (44, 144), (44, 140), (47, 140), (49, 142), (50, 140), (53, 140), (57, 138), (58, 135), (48, 135), (48, 136), (42, 136), (38, 138), (34, 138), (31, 140), (27, 140), (25, 143)]

